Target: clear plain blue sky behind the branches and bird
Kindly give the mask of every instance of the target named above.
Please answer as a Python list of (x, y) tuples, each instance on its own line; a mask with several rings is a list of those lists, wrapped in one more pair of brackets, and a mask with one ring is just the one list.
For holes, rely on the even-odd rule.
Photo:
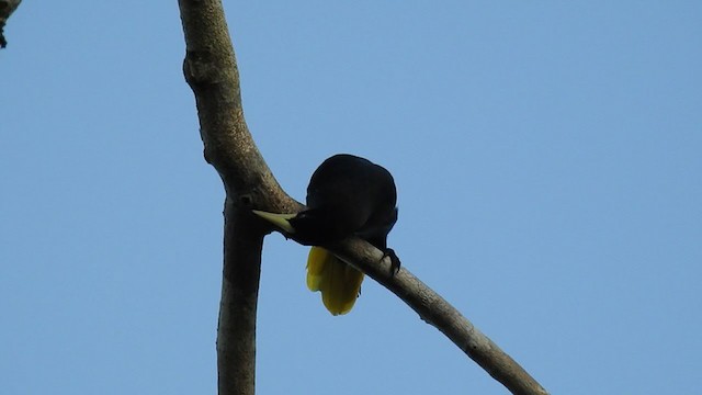
[[(44, 7), (44, 8), (42, 8)], [(702, 2), (226, 1), (304, 200), (382, 163), (407, 269), (553, 394), (693, 394)], [(176, 1), (24, 1), (0, 52), (0, 393), (214, 394), (224, 192)], [(259, 394), (505, 394), (366, 280), (332, 317), (267, 238)]]

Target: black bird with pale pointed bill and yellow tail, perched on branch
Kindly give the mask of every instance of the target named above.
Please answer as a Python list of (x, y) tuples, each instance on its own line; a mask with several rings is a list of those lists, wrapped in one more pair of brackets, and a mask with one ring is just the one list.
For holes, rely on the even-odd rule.
[(327, 158), (312, 174), (306, 208), (298, 213), (252, 212), (305, 246), (307, 287), (321, 293), (332, 315), (349, 313), (361, 292), (363, 273), (343, 262), (326, 245), (360, 237), (389, 257), (392, 274), (399, 258), (387, 247), (387, 235), (397, 222), (397, 189), (389, 171), (350, 154)]

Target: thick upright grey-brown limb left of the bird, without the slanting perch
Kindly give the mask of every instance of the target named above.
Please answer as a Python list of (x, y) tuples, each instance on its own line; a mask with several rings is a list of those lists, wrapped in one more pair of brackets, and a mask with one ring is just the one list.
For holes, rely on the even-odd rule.
[(180, 0), (185, 80), (195, 94), (205, 160), (224, 182), (224, 269), (217, 327), (220, 395), (253, 395), (256, 313), (263, 236), (250, 205), (296, 211), (249, 134), (231, 40), (219, 0)]

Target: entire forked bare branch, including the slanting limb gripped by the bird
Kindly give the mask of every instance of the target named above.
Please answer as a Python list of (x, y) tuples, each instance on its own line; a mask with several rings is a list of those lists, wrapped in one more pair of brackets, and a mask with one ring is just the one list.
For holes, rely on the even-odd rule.
[[(294, 213), (263, 161), (244, 119), (239, 76), (220, 0), (179, 0), (185, 36), (183, 71), (197, 104), (205, 160), (226, 191), (224, 270), (217, 330), (220, 395), (252, 395), (256, 313), (263, 236), (272, 229), (249, 212)], [(382, 252), (360, 239), (328, 248), (398, 295), (514, 394), (546, 394), (517, 362), (406, 269), (392, 276)]]

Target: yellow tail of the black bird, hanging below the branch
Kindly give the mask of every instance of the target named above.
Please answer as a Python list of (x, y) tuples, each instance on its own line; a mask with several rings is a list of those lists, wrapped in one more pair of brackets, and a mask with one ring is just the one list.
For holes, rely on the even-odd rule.
[(320, 291), (325, 307), (332, 315), (347, 314), (353, 308), (363, 273), (347, 264), (321, 247), (313, 247), (307, 258), (307, 287)]

